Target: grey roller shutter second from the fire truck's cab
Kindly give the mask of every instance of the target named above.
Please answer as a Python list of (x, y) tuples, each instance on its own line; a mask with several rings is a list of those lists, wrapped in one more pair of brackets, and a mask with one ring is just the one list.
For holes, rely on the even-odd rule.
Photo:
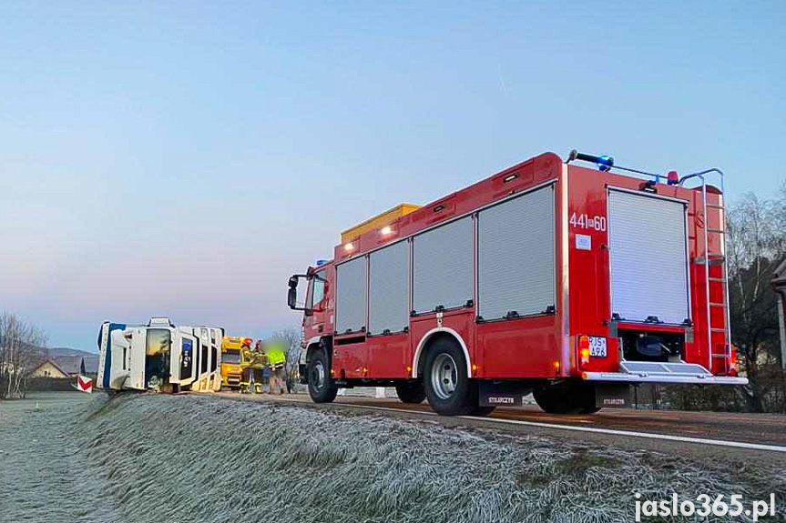
[(409, 326), (409, 244), (406, 241), (369, 256), (369, 334), (401, 332)]

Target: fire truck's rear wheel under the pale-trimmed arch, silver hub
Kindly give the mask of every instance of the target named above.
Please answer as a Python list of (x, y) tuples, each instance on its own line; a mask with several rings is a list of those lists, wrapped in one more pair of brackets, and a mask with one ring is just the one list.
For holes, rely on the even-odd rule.
[(457, 343), (441, 337), (425, 357), (423, 383), (428, 403), (443, 416), (465, 416), (477, 408), (477, 384), (466, 372), (464, 353)]

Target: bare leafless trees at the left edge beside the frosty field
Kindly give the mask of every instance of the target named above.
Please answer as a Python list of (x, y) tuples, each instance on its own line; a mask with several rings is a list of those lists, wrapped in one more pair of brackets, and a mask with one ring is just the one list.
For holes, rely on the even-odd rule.
[(45, 344), (38, 327), (7, 312), (0, 315), (0, 399), (25, 397), (30, 367)]

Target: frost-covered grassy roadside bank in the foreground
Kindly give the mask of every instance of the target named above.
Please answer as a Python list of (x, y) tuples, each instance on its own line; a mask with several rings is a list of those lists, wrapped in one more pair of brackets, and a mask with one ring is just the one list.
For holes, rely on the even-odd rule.
[[(746, 500), (786, 492), (783, 468), (699, 468), (652, 453), (217, 397), (98, 396), (56, 416), (30, 408), (0, 416), (0, 520), (9, 522), (622, 522), (634, 519), (636, 492)], [(776, 496), (777, 520), (786, 519), (786, 499)]]

